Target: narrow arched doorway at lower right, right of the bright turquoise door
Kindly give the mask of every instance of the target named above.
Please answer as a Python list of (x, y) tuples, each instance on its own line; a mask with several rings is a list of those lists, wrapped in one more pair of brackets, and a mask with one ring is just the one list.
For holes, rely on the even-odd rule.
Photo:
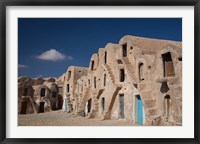
[(164, 115), (167, 121), (171, 118), (171, 98), (169, 95), (164, 97)]

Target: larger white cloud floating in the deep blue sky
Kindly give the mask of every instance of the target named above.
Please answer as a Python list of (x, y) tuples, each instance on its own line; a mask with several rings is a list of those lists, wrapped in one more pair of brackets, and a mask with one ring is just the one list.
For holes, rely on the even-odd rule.
[(61, 61), (64, 59), (72, 60), (71, 56), (65, 56), (64, 54), (60, 53), (55, 49), (50, 49), (41, 53), (39, 56), (36, 56), (37, 59), (46, 60), (46, 61)]

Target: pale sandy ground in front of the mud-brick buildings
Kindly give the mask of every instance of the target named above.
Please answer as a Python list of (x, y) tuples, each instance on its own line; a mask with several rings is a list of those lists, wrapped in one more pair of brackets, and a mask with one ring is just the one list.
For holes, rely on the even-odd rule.
[(62, 110), (18, 115), (19, 126), (133, 126), (126, 120), (100, 120), (97, 118), (74, 116)]

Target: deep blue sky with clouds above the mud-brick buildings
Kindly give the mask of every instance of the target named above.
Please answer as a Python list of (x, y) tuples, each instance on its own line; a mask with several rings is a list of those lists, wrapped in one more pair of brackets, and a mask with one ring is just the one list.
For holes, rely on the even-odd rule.
[(125, 35), (182, 41), (181, 18), (19, 18), (18, 75), (58, 77), (88, 67), (93, 53)]

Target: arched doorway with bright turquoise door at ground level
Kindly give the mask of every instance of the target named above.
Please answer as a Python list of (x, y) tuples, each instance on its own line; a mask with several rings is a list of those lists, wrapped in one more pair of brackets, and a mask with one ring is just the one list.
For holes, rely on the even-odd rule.
[(143, 124), (143, 104), (140, 95), (135, 96), (135, 121), (138, 124)]

